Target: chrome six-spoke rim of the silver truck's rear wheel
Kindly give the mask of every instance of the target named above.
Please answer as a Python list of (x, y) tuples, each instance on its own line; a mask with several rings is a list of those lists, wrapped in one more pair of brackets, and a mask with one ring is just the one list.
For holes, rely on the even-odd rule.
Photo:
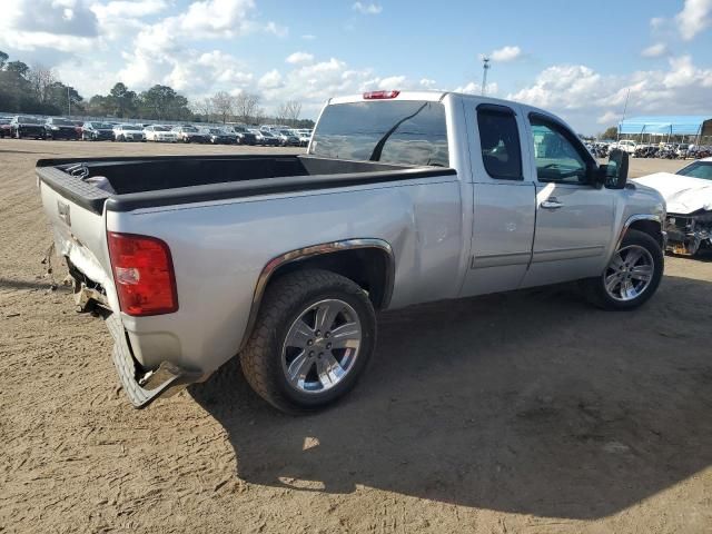
[(324, 393), (354, 368), (362, 344), (356, 310), (335, 298), (304, 309), (291, 324), (281, 348), (281, 368), (300, 393)]

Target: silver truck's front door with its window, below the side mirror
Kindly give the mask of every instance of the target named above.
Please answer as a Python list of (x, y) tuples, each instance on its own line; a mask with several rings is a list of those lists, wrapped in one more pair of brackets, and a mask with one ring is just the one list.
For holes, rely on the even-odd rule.
[(614, 199), (590, 182), (595, 160), (553, 117), (530, 113), (531, 165), (536, 176), (536, 231), (523, 286), (597, 276), (613, 239)]

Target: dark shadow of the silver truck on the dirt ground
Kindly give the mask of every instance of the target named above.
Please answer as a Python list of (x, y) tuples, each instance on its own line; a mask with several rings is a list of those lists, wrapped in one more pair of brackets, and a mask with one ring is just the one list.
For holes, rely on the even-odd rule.
[(248, 483), (603, 517), (712, 463), (711, 299), (666, 277), (626, 314), (570, 286), (417, 306), (379, 318), (360, 385), (318, 415), (277, 413), (236, 360), (190, 394)]

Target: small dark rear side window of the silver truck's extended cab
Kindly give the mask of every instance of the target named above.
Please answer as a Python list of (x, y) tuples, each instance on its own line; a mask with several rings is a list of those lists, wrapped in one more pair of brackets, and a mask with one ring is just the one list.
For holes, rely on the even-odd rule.
[(522, 180), (522, 149), (514, 112), (504, 106), (477, 108), (477, 127), (487, 174), (492, 178)]

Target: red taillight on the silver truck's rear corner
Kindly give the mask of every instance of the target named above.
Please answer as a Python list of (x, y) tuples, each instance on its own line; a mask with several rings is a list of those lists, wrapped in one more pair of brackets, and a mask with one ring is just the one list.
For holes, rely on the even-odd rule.
[(160, 239), (110, 231), (109, 256), (121, 312), (134, 316), (178, 309), (170, 249)]

